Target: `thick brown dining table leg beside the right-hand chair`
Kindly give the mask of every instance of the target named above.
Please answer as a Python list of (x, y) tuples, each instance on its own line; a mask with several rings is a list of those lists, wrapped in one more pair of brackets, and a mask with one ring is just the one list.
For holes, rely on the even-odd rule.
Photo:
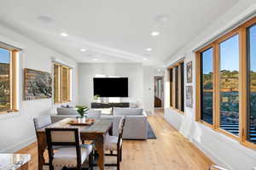
[(104, 170), (104, 164), (105, 164), (105, 155), (104, 155), (104, 138), (105, 138), (105, 135), (104, 134), (101, 134), (101, 135), (98, 135), (96, 137), (96, 150), (99, 154), (99, 158), (98, 158), (98, 167), (100, 170)]

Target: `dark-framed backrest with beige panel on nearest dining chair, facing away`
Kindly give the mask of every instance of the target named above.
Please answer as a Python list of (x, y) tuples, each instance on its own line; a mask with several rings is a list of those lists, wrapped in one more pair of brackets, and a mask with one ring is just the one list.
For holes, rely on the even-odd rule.
[(80, 136), (78, 128), (45, 128), (49, 165), (52, 166), (54, 158), (53, 146), (75, 146), (77, 152), (77, 165), (81, 165)]

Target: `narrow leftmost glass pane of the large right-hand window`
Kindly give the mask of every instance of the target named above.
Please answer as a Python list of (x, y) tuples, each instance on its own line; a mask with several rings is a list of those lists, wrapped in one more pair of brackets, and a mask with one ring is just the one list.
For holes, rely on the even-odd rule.
[(201, 53), (201, 120), (212, 124), (212, 48)]

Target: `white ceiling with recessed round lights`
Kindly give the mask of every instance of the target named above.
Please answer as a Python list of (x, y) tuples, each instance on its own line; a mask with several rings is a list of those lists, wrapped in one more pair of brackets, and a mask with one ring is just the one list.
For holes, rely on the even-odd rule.
[[(163, 65), (168, 56), (237, 2), (1, 0), (0, 22), (78, 62)], [(169, 16), (166, 22), (157, 20), (163, 14)], [(38, 20), (39, 16), (48, 16), (52, 20)], [(61, 37), (63, 31), (69, 37)], [(151, 37), (152, 31), (160, 31), (160, 36)], [(87, 51), (81, 52), (80, 48)], [(149, 53), (146, 48), (153, 48), (153, 51)]]

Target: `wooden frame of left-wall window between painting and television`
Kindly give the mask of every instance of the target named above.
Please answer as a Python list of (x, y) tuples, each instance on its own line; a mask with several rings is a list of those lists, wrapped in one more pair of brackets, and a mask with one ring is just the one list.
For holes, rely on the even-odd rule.
[[(61, 65), (58, 63), (54, 63), (54, 68), (55, 66), (58, 67), (58, 74), (56, 75), (58, 77), (58, 84), (57, 84), (57, 90), (58, 90), (58, 96), (57, 100), (55, 100), (55, 95), (54, 94), (54, 104), (62, 104), (62, 103), (68, 103), (71, 102), (71, 72), (72, 69), (70, 67), (67, 67), (66, 65)], [(62, 84), (62, 79), (63, 79), (63, 68), (67, 69), (67, 99), (63, 99), (63, 84)], [(55, 69), (54, 70), (54, 76), (55, 76)], [(54, 84), (54, 89), (55, 89), (55, 84)]]

